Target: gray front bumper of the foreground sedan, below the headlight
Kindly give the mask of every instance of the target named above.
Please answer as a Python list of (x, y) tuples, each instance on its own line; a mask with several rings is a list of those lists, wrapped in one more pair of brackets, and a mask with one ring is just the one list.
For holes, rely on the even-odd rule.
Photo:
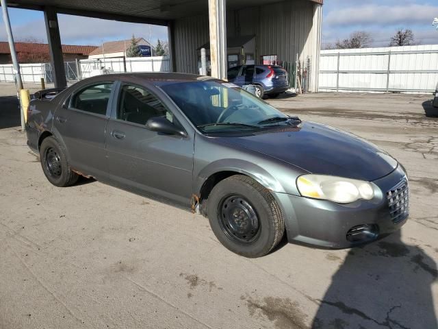
[[(394, 221), (387, 191), (404, 179), (407, 180), (406, 174), (399, 166), (389, 175), (374, 181), (381, 189), (381, 195), (352, 204), (276, 193), (286, 221), (287, 239), (292, 243), (341, 249), (369, 243), (399, 230), (406, 223), (408, 212)], [(362, 228), (365, 228), (365, 233), (352, 241), (351, 233), (361, 232)]]

